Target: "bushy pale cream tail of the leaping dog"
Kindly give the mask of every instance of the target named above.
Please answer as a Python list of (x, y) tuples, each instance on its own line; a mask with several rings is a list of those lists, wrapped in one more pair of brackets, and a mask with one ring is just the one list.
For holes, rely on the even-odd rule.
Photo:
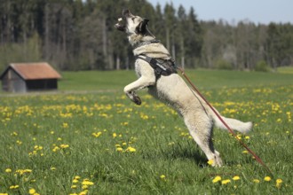
[[(218, 111), (216, 111), (216, 112), (218, 113)], [(217, 128), (227, 129), (226, 126), (223, 124), (223, 122), (218, 119), (218, 116), (216, 115), (216, 113), (211, 113), (211, 116), (212, 116), (214, 124)], [(226, 118), (222, 115), (220, 115), (220, 116), (226, 122), (226, 124), (229, 126), (229, 128), (231, 128), (231, 129), (237, 130), (242, 133), (248, 133), (252, 129), (253, 124), (251, 121), (242, 122), (242, 121), (239, 121), (236, 119)]]

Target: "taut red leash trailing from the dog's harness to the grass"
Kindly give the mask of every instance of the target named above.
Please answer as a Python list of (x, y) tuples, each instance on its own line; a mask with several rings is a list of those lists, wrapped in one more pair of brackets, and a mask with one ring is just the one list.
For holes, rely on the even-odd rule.
[(265, 167), (265, 169), (270, 172), (270, 174), (273, 175), (272, 171), (270, 170), (270, 168), (268, 168), (265, 163), (263, 162), (263, 160), (261, 160), (257, 154), (255, 152), (252, 152), (249, 147), (244, 144), (242, 142), (242, 140), (234, 133), (234, 131), (227, 125), (226, 121), (223, 120), (223, 118), (217, 113), (217, 111), (215, 110), (215, 108), (213, 106), (210, 105), (210, 103), (208, 102), (208, 100), (206, 98), (204, 98), (201, 94), (201, 92), (199, 90), (196, 89), (196, 87), (194, 86), (193, 82), (191, 82), (188, 78), (188, 76), (186, 76), (184, 70), (180, 67), (178, 67), (179, 71), (181, 72), (181, 74), (186, 78), (186, 81), (192, 86), (193, 90), (195, 90), (197, 92), (197, 94), (203, 99), (203, 101), (209, 105), (210, 109), (212, 110), (213, 113), (215, 113), (218, 117), (218, 119), (225, 125), (226, 129), (229, 130), (229, 132), (239, 141), (240, 144), (242, 144), (242, 146), (257, 160), (257, 162), (259, 164), (261, 164), (262, 166)]

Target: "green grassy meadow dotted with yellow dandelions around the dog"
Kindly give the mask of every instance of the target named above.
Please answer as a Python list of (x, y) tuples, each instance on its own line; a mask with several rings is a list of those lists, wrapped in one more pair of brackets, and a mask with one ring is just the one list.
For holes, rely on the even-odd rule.
[(211, 168), (177, 113), (123, 95), (131, 71), (66, 72), (57, 93), (0, 95), (0, 193), (292, 194), (293, 75), (186, 74), (220, 113), (255, 121), (239, 137), (273, 175), (219, 129), (225, 166)]

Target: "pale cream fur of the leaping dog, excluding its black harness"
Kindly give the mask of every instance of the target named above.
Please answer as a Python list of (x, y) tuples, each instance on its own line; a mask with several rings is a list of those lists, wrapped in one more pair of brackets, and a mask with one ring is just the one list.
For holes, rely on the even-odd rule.
[[(127, 33), (131, 45), (154, 39), (152, 35), (139, 34), (138, 27), (144, 19), (132, 15), (129, 11), (124, 11), (123, 17), (126, 20), (123, 31)], [(116, 24), (116, 26), (119, 26), (119, 24)], [(170, 53), (162, 43), (140, 46), (133, 53), (135, 56), (144, 54), (151, 58), (170, 59)], [(219, 157), (219, 152), (214, 149), (211, 136), (214, 125), (220, 129), (226, 129), (226, 127), (219, 121), (216, 114), (210, 110), (210, 107), (206, 105), (202, 98), (191, 90), (178, 74), (161, 75), (160, 78), (156, 79), (153, 67), (145, 60), (140, 58), (136, 60), (135, 71), (139, 79), (131, 82), (124, 88), (125, 94), (136, 104), (140, 105), (141, 101), (136, 91), (148, 87), (148, 92), (151, 95), (172, 106), (182, 115), (190, 135), (193, 136), (194, 141), (201, 147), (208, 160), (212, 160), (213, 166), (221, 166), (222, 160)], [(242, 133), (247, 133), (252, 129), (251, 122), (242, 122), (225, 117), (223, 119), (231, 129)]]

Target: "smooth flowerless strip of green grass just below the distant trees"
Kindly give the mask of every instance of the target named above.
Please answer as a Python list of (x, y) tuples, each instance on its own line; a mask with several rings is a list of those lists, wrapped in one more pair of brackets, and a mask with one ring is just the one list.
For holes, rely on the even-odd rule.
[[(186, 70), (190, 79), (204, 89), (282, 85), (292, 81), (291, 74), (241, 71)], [(59, 90), (123, 90), (123, 86), (137, 77), (133, 71), (64, 72)]]

